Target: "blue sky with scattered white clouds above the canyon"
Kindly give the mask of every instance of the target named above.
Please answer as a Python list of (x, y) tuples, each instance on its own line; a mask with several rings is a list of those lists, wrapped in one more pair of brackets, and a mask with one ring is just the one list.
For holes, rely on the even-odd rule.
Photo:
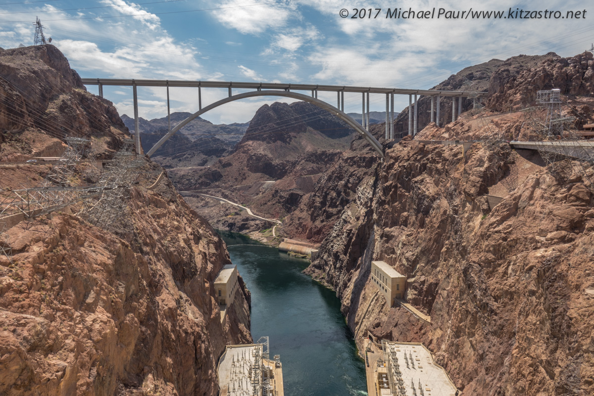
[[(416, 17), (386, 18), (396, 8), (412, 9)], [(510, 9), (518, 13), (508, 17)], [(472, 18), (471, 10), (503, 11), (505, 18)], [(540, 11), (542, 17), (518, 18), (520, 10), (537, 12), (529, 17)], [(419, 11), (429, 18), (418, 18)], [(470, 17), (446, 18), (448, 11)], [(545, 18), (545, 11), (560, 11), (563, 18)], [(582, 13), (565, 18), (567, 11)], [(490, 59), (551, 51), (573, 56), (594, 42), (594, 4), (586, 0), (0, 0), (0, 46), (33, 45), (36, 17), (46, 39), (52, 37), (83, 78), (428, 89)], [(97, 93), (97, 87), (88, 88)], [(121, 115), (133, 114), (131, 87), (103, 92)], [(203, 89), (203, 106), (227, 94), (224, 88)], [(139, 87), (138, 98), (141, 117), (167, 115), (165, 88)], [(171, 112), (198, 110), (197, 88), (170, 88), (170, 98)], [(318, 99), (336, 105), (335, 93), (319, 93)], [(231, 102), (203, 118), (248, 122), (275, 100)], [(396, 96), (395, 110), (407, 102)], [(370, 103), (371, 110), (385, 110), (383, 94), (372, 94)], [(360, 94), (345, 94), (345, 111), (361, 112)]]

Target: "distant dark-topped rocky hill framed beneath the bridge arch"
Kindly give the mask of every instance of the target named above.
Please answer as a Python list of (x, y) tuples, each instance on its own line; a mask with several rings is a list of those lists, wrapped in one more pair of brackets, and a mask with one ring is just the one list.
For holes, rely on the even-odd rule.
[[(172, 179), (181, 190), (227, 198), (267, 218), (284, 217), (312, 191), (328, 164), (342, 156), (353, 132), (313, 104), (266, 104), (258, 109), (232, 154), (202, 169), (175, 170)], [(188, 202), (216, 227), (267, 228), (236, 207), (222, 207), (210, 198), (188, 198)]]

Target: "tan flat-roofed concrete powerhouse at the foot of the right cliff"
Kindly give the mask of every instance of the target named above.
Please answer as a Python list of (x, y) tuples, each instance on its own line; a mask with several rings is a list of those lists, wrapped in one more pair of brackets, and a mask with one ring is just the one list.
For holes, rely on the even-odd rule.
[(378, 344), (365, 338), (364, 346), (369, 396), (400, 396), (400, 391), (406, 396), (459, 393), (444, 368), (435, 363), (431, 351), (421, 343)]

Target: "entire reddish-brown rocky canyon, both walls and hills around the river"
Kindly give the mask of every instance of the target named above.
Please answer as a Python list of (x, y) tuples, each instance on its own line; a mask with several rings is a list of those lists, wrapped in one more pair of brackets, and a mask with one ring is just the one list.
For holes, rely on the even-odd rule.
[[(59, 154), (67, 132), (109, 160), (127, 136), (113, 104), (88, 93), (55, 47), (2, 50), (0, 71), (2, 162)], [(147, 160), (110, 230), (76, 207), (12, 227), (12, 259), (0, 256), (0, 394), (217, 394), (225, 344), (252, 342), (251, 297), (240, 278), (220, 321), (213, 281), (230, 259), (211, 224), (268, 225), (178, 191), (248, 205), (282, 219), (280, 235), (320, 245), (305, 273), (336, 293), (359, 350), (369, 334), (422, 342), (462, 395), (594, 394), (594, 169), (506, 142), (536, 136), (521, 110), (542, 89), (561, 89), (577, 128), (594, 122), (592, 54), (493, 59), (434, 88), (464, 86), (488, 92), (484, 110), (467, 101), (455, 121), (441, 112), (438, 127), (421, 97), (415, 137), (407, 108), (398, 141), (371, 125), (383, 161), (323, 110), (273, 103), (241, 140), (212, 145), (219, 151)], [(164, 150), (195, 143), (176, 139)], [(442, 140), (477, 141), (431, 142)], [(0, 167), (2, 197), (49, 169)], [(93, 175), (81, 166), (77, 183)], [(378, 260), (405, 275), (406, 302), (430, 323), (378, 295)]]

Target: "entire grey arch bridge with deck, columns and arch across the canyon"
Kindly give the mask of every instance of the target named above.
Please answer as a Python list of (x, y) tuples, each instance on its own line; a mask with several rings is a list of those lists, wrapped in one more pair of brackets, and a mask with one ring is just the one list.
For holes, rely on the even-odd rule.
[[(420, 96), (431, 97), (431, 122), (439, 122), (440, 119), (440, 99), (441, 97), (451, 97), (452, 106), (451, 114), (452, 121), (456, 120), (456, 98), (458, 99), (459, 115), (462, 112), (462, 100), (465, 97), (481, 97), (486, 96), (486, 92), (476, 91), (441, 91), (441, 90), (415, 90), (405, 88), (377, 88), (377, 87), (353, 87), (347, 85), (312, 85), (312, 84), (281, 84), (281, 83), (235, 83), (231, 81), (180, 81), (180, 80), (122, 80), (114, 78), (83, 78), (84, 85), (97, 85), (99, 87), (99, 96), (103, 97), (103, 86), (131, 86), (132, 96), (134, 100), (134, 130), (136, 140), (136, 150), (141, 154), (142, 148), (140, 145), (140, 134), (138, 132), (138, 94), (137, 87), (166, 87), (167, 88), (167, 112), (168, 112), (168, 132), (161, 138), (153, 147), (147, 151), (147, 156), (151, 156), (161, 147), (166, 140), (168, 140), (175, 132), (179, 131), (188, 122), (197, 118), (200, 115), (212, 110), (216, 107), (222, 106), (225, 103), (233, 102), (235, 100), (246, 99), (257, 96), (282, 96), (290, 97), (292, 99), (303, 100), (315, 104), (321, 109), (327, 110), (338, 118), (342, 119), (351, 128), (355, 129), (365, 140), (384, 157), (380, 142), (373, 137), (368, 131), (369, 129), (369, 94), (385, 94), (386, 95), (386, 131), (385, 138), (394, 138), (394, 95), (408, 95), (409, 96), (409, 135), (416, 135), (418, 125), (418, 109), (417, 100)], [(170, 102), (169, 102), (169, 87), (188, 87), (198, 88), (198, 111), (189, 116), (184, 121), (178, 123), (171, 128), (170, 122)], [(202, 107), (202, 88), (227, 88), (228, 97), (217, 102), (211, 103), (206, 107)], [(249, 89), (253, 91), (244, 92), (233, 95), (232, 90), (235, 89)], [(311, 96), (297, 93), (295, 91), (311, 91)], [(318, 99), (318, 91), (336, 92), (337, 105), (332, 106), (330, 103)], [(352, 117), (345, 113), (345, 92), (361, 93), (362, 94), (362, 116), (361, 123), (356, 122)], [(414, 96), (414, 102), (413, 102)], [(436, 103), (437, 102), (437, 103)], [(437, 104), (437, 105), (436, 105)], [(413, 110), (414, 109), (414, 110)]]

